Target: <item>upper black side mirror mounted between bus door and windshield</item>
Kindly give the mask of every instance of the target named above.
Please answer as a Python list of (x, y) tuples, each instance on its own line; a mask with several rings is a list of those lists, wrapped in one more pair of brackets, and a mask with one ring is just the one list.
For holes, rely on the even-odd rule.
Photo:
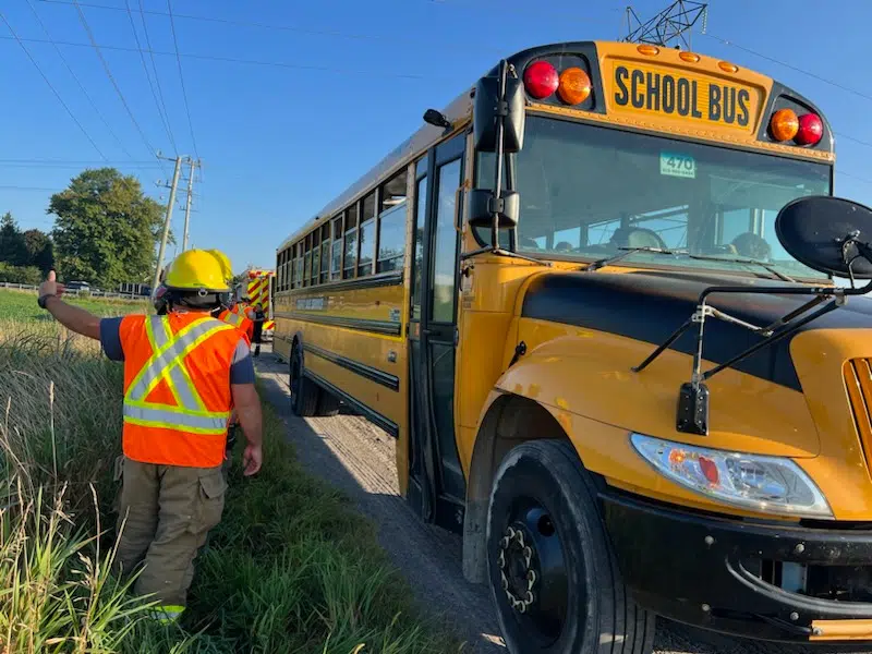
[(497, 124), (502, 119), (502, 154), (521, 150), (524, 141), (524, 88), (517, 77), (506, 76), (506, 95), (499, 97), (499, 77), (482, 77), (475, 85), (473, 143), (477, 153), (496, 153)]

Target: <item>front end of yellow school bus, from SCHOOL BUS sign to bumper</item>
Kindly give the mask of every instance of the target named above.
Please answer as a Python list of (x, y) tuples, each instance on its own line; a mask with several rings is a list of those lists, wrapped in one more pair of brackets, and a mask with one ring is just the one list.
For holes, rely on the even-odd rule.
[[(652, 614), (872, 639), (872, 311), (851, 301), (732, 361), (763, 339), (749, 325), (811, 298), (756, 291), (832, 284), (775, 232), (786, 204), (832, 194), (825, 119), (690, 52), (561, 44), (508, 62), (526, 100), (504, 173), (517, 228), (497, 231), (514, 254), (460, 265), (455, 402), (467, 573), (494, 588), (509, 649), (592, 652), (608, 632), (644, 652)], [(474, 158), (469, 186), (493, 189), (494, 153)], [(469, 205), (462, 250), (486, 250), (491, 218)], [(738, 323), (706, 323), (703, 371), (727, 367), (700, 434), (677, 415), (695, 331), (635, 368), (712, 286), (749, 292), (712, 300)]]

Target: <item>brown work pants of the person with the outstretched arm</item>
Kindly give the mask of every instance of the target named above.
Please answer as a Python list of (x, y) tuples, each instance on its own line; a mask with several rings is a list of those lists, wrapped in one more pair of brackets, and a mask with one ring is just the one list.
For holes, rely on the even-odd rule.
[(194, 558), (221, 521), (226, 477), (217, 468), (156, 465), (119, 457), (116, 479), (121, 534), (117, 570), (128, 577), (142, 566), (134, 593), (162, 606), (185, 606)]

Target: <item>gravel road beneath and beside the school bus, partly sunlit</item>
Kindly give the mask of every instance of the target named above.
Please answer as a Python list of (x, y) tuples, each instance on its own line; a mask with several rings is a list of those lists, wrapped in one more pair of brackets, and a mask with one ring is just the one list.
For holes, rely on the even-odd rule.
[[(400, 497), (395, 440), (355, 415), (305, 420), (293, 415), (287, 366), (272, 356), (268, 347), (257, 362), (257, 370), (266, 387), (264, 399), (276, 407), (287, 423), (300, 460), (312, 473), (346, 492), (379, 525), (383, 547), (405, 574), (421, 606), (460, 632), (475, 652), (506, 654), (487, 589), (463, 579), (460, 536), (423, 524)], [(658, 625), (655, 650), (659, 654), (808, 651), (738, 641), (666, 622)]]

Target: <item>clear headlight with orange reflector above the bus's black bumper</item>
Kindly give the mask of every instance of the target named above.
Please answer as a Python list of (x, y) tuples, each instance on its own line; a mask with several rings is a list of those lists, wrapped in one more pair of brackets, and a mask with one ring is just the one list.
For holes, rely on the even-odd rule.
[(790, 459), (730, 452), (632, 434), (643, 459), (665, 477), (736, 507), (796, 518), (834, 518), (814, 482)]

